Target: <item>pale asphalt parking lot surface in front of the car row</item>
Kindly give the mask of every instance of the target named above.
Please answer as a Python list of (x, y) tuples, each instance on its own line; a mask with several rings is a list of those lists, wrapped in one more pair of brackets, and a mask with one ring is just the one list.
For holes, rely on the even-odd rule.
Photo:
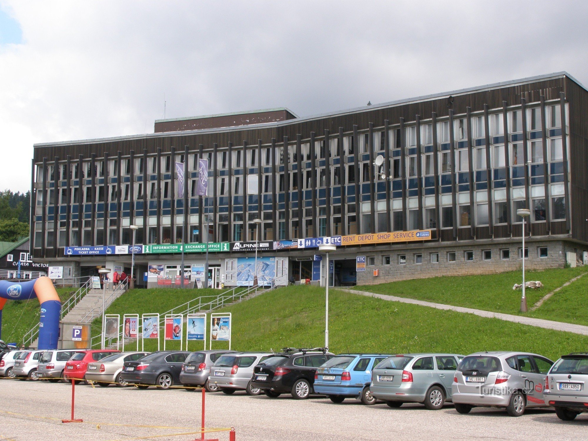
[[(0, 381), (0, 439), (69, 441), (158, 436), (153, 439), (191, 440), (197, 436), (172, 434), (193, 432), (184, 428), (200, 426), (200, 391), (76, 386), (76, 417), (84, 423), (63, 424), (61, 419), (70, 414), (70, 399), (70, 385)], [(588, 413), (573, 422), (562, 422), (553, 410), (527, 410), (525, 415), (513, 418), (498, 409), (479, 408), (469, 415), (459, 415), (452, 406), (435, 412), (419, 405), (399, 409), (390, 409), (384, 403), (363, 406), (352, 399), (336, 405), (319, 397), (298, 401), (286, 395), (270, 399), (244, 393), (207, 393), (206, 427), (235, 427), (237, 440), (585, 440)], [(229, 435), (209, 433), (206, 438), (228, 440)]]

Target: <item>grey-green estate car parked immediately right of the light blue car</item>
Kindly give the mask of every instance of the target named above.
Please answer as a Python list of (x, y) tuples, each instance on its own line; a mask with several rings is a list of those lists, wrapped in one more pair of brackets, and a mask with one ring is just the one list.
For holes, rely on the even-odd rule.
[(423, 403), (427, 409), (441, 409), (452, 400), (453, 374), (462, 358), (440, 353), (391, 356), (373, 369), (370, 393), (390, 407)]

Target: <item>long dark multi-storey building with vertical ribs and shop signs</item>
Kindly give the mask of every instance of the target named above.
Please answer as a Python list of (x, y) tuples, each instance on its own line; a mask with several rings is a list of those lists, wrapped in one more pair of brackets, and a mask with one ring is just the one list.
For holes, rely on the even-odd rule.
[(32, 255), (75, 277), (130, 272), (135, 250), (152, 286), (176, 282), (182, 247), (202, 275), (210, 242), (215, 286), (281, 283), (325, 278), (316, 247), (331, 241), (330, 283), (381, 283), (519, 268), (528, 208), (527, 268), (575, 265), (587, 165), (588, 91), (566, 72), (306, 118), (165, 119), (148, 135), (35, 145)]

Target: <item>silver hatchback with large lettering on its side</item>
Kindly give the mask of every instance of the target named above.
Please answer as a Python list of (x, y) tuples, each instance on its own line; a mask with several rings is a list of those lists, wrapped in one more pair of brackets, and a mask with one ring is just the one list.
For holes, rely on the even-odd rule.
[(478, 352), (465, 357), (455, 372), (452, 395), (455, 410), (504, 407), (521, 416), (526, 407), (546, 407), (543, 382), (552, 360), (527, 352)]

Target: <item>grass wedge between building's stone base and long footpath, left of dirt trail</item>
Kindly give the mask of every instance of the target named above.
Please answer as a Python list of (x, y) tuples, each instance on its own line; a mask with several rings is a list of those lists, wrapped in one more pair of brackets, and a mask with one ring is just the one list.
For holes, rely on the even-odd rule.
[[(531, 308), (544, 295), (586, 270), (588, 270), (586, 267), (577, 267), (525, 272), (526, 280), (540, 280), (543, 283), (542, 289), (526, 290), (527, 305)], [(515, 283), (521, 283), (521, 281), (520, 271), (510, 271), (477, 276), (401, 280), (381, 285), (360, 285), (355, 289), (465, 308), (517, 314), (520, 308), (521, 292), (512, 288)], [(547, 319), (549, 316), (544, 318)]]

